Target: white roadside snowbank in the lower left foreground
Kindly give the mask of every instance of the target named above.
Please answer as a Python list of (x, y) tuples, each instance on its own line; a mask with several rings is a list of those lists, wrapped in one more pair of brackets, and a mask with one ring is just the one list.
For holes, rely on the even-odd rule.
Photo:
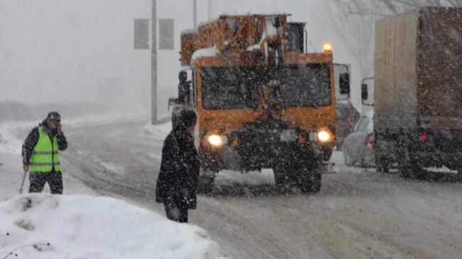
[(204, 229), (110, 197), (21, 195), (0, 203), (0, 219), (0, 258), (221, 256)]

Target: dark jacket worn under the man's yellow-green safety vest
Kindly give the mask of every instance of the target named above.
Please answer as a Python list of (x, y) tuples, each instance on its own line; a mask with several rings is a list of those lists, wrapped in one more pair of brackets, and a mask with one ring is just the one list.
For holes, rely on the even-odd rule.
[[(40, 126), (43, 126), (43, 131), (45, 131), (48, 134), (48, 137), (50, 137), (50, 140), (56, 136), (57, 149), (59, 149), (60, 151), (64, 151), (67, 149), (67, 139), (62, 132), (57, 133), (56, 131), (49, 129), (45, 121), (41, 122), (38, 125), (38, 127)], [(32, 152), (33, 152), (35, 145), (38, 142), (38, 137), (39, 137), (38, 127), (34, 127), (32, 131), (28, 134), (26, 140), (24, 141), (22, 153), (23, 153), (23, 164), (25, 165), (29, 165), (31, 163)]]

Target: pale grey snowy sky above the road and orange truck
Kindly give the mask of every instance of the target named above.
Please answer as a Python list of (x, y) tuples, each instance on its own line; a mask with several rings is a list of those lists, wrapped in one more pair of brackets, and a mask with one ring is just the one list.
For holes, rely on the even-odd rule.
[[(197, 0), (207, 21), (207, 0)], [(0, 101), (150, 105), (150, 50), (133, 49), (133, 19), (150, 18), (150, 0), (0, 0)], [(335, 62), (355, 62), (328, 27), (325, 1), (214, 1), (212, 13), (291, 13), (307, 22), (309, 51), (334, 45)], [(159, 117), (176, 95), (180, 30), (192, 28), (192, 0), (158, 0), (158, 18), (175, 19), (175, 50), (158, 51)], [(316, 50), (312, 47), (316, 47)], [(114, 89), (111, 93), (107, 88)], [(353, 98), (358, 103), (356, 91)]]

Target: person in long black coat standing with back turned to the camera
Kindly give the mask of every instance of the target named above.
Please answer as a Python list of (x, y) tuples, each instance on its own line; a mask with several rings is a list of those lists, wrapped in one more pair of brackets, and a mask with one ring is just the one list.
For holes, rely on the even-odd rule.
[(188, 209), (196, 209), (200, 166), (192, 137), (196, 121), (192, 110), (180, 112), (177, 126), (165, 138), (155, 187), (155, 201), (164, 204), (167, 218), (182, 223), (187, 222)]

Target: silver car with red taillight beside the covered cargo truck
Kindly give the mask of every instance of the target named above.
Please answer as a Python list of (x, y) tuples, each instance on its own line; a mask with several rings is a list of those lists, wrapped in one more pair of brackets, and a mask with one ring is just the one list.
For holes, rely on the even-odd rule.
[(343, 141), (343, 158), (347, 166), (373, 166), (373, 111), (361, 115), (353, 132)]

